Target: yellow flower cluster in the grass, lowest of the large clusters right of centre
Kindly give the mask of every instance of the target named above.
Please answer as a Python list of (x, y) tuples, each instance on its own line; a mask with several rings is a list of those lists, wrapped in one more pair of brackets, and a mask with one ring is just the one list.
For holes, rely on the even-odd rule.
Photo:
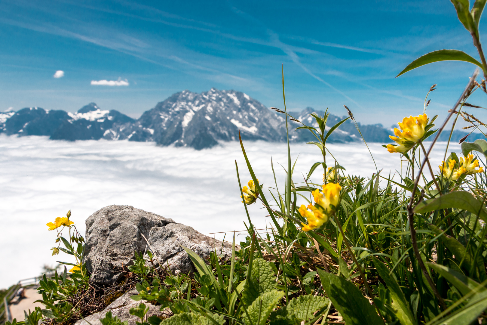
[(301, 223), (303, 231), (321, 227), (328, 222), (329, 215), (337, 208), (340, 200), (340, 190), (340, 185), (328, 183), (323, 185), (322, 193), (318, 189), (312, 192), (315, 204), (310, 203), (307, 208), (303, 204), (299, 209), (300, 214), (308, 221), (307, 225)]

